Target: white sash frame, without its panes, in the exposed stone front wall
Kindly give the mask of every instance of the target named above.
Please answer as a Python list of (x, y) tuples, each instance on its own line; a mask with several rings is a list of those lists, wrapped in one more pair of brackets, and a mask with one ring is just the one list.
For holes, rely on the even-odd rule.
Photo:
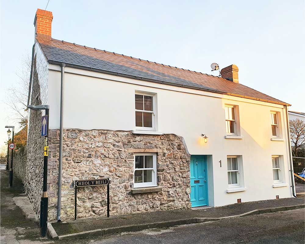
[[(152, 156), (152, 168), (135, 168), (135, 157), (136, 156)], [(145, 158), (144, 158), (145, 160)], [(145, 161), (144, 165), (145, 167)], [(157, 155), (156, 153), (135, 153), (134, 154), (134, 172), (133, 172), (133, 187), (134, 188), (142, 188), (142, 187), (152, 187), (157, 186)], [(142, 182), (142, 183), (135, 183), (135, 171), (136, 170), (152, 170), (152, 182)]]

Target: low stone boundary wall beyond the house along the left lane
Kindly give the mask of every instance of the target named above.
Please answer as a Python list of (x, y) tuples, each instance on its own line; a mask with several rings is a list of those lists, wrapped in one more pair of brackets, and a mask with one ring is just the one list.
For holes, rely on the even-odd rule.
[[(10, 159), (10, 158), (9, 158)], [(9, 160), (9, 163), (11, 161)], [(27, 147), (24, 146), (18, 150), (14, 150), (13, 172), (22, 182), (25, 181), (27, 175)]]

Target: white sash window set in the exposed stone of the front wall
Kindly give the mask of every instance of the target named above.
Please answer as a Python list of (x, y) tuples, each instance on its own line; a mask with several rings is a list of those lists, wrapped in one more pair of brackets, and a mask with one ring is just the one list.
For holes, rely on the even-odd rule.
[(135, 154), (134, 188), (156, 186), (156, 154)]

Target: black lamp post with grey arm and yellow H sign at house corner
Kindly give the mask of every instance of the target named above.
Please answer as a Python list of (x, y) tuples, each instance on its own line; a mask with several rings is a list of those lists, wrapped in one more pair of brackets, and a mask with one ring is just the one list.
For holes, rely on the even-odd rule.
[[(47, 117), (45, 121), (46, 125), (46, 135), (45, 135), (45, 148), (48, 150), (48, 131), (49, 131), (49, 105), (29, 105), (29, 109), (33, 110), (45, 110), (45, 115)], [(43, 126), (45, 128), (45, 126)], [(48, 151), (45, 153), (43, 158), (43, 186), (40, 201), (40, 228), (41, 236), (47, 236), (47, 224), (48, 224), (48, 193), (47, 193), (47, 180), (48, 180)]]

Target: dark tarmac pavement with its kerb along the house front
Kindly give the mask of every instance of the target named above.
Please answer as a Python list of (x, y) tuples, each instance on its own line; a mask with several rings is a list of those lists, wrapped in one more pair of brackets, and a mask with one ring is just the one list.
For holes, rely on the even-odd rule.
[(83, 238), (86, 236), (108, 235), (181, 224), (216, 221), (229, 217), (241, 217), (250, 214), (270, 213), (297, 208), (304, 208), (303, 199), (284, 198), (235, 203), (227, 206), (203, 209), (164, 210), (112, 216), (110, 218), (83, 218), (76, 221), (52, 223), (52, 226), (59, 239)]

